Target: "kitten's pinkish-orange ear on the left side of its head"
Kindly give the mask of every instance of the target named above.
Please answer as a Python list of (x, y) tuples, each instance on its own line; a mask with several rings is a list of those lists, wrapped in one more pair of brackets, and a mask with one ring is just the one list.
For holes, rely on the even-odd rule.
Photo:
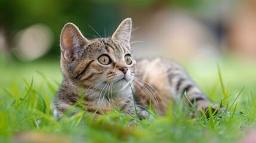
[(60, 35), (60, 48), (64, 60), (73, 61), (79, 58), (79, 49), (87, 43), (89, 43), (89, 41), (84, 38), (75, 24), (67, 23), (63, 27)]

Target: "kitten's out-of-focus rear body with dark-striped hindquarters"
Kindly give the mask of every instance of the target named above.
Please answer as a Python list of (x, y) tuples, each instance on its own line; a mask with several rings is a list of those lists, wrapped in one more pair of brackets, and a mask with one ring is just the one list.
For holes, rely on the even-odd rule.
[[(187, 73), (173, 61), (161, 58), (138, 61), (134, 81), (138, 102), (147, 106), (151, 101), (156, 113), (162, 116), (166, 114), (169, 102), (180, 102), (185, 91), (189, 100), (184, 100), (187, 101), (187, 105), (195, 102), (195, 107), (199, 111), (201, 108), (206, 110), (208, 105), (212, 105)], [(217, 107), (218, 105), (213, 105), (212, 110)]]

